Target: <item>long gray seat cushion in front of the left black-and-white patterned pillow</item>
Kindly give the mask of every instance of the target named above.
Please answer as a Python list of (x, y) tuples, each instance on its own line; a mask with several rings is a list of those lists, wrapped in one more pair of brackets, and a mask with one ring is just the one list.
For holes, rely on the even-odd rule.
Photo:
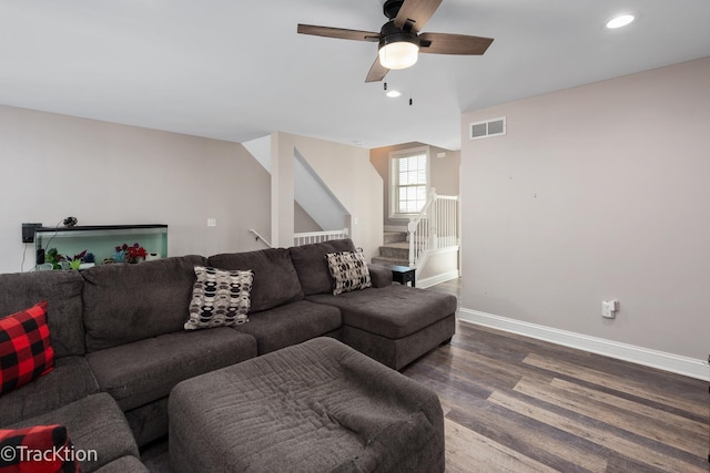
[(255, 356), (253, 337), (220, 327), (112, 347), (87, 354), (87, 360), (101, 390), (128, 411), (168, 395), (184, 379)]

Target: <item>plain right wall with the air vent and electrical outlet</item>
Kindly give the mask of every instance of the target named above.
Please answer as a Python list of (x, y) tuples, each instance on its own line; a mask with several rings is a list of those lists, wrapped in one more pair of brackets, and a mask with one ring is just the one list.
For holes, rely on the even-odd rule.
[(706, 359), (708, 84), (710, 58), (465, 113), (463, 307)]

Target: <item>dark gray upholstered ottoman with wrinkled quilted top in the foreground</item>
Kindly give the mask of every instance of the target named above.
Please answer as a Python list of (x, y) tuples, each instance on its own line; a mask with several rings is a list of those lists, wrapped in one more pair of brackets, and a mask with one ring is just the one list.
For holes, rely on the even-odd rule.
[(179, 383), (175, 472), (443, 472), (444, 417), (428, 388), (331, 338)]

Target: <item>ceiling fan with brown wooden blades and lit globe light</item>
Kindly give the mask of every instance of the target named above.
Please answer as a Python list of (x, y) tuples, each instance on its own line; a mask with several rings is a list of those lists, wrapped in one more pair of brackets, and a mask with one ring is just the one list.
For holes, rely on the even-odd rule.
[(382, 81), (390, 69), (414, 65), (419, 52), (466, 55), (485, 53), (493, 38), (419, 33), (440, 3), (442, 0), (386, 0), (383, 12), (389, 21), (382, 27), (379, 33), (313, 24), (298, 24), (298, 33), (378, 42), (378, 58), (369, 68), (365, 82)]

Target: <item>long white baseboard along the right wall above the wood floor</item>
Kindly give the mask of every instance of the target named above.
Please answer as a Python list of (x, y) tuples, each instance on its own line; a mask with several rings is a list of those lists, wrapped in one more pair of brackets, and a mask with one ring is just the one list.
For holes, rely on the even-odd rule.
[[(418, 286), (418, 285), (417, 285)], [(494, 316), (493, 313), (480, 312), (471, 309), (459, 309), (458, 319), (462, 321), (477, 323), (494, 329), (523, 335), (538, 340), (592, 353), (604, 354), (659, 370), (670, 371), (690, 378), (710, 381), (708, 362), (694, 358), (681, 357), (679, 354), (620, 343), (618, 341), (602, 338), (589, 337), (581, 333), (559, 330), (536, 323), (524, 322), (521, 320)]]

